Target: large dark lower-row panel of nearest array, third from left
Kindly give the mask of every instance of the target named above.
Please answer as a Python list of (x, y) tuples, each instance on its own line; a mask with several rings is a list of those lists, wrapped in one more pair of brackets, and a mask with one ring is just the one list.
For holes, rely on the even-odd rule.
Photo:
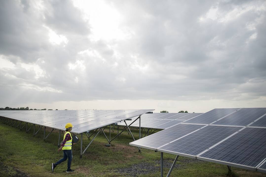
[(266, 128), (247, 127), (201, 154), (199, 158), (255, 168), (266, 157), (265, 137)]

